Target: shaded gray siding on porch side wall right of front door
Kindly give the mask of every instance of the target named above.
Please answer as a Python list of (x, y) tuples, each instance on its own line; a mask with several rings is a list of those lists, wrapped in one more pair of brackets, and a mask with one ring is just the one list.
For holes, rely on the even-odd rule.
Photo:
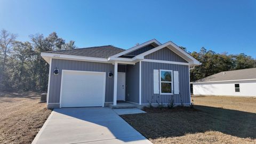
[(139, 78), (140, 63), (126, 66), (126, 91), (125, 100), (139, 103)]

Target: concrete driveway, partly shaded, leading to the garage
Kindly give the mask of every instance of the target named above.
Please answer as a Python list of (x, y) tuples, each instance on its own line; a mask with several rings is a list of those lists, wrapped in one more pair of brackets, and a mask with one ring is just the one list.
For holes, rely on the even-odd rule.
[(151, 143), (110, 108), (54, 109), (32, 143)]

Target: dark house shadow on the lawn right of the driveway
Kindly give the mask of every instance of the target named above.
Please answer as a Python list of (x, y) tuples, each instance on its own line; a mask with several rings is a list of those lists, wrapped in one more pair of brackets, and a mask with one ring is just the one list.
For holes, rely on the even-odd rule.
[(256, 139), (255, 113), (206, 106), (195, 106), (195, 109), (165, 110), (162, 113), (162, 110), (160, 113), (148, 111), (145, 114), (123, 115), (122, 118), (151, 139), (206, 131)]

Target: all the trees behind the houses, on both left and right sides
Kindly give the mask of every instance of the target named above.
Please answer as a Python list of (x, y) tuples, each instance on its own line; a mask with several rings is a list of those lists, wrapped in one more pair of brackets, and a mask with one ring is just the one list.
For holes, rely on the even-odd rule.
[[(49, 65), (41, 52), (76, 49), (75, 42), (65, 42), (53, 32), (29, 36), (30, 41), (17, 41), (17, 35), (6, 30), (0, 33), (0, 91), (47, 91)], [(180, 47), (186, 50), (186, 47)], [(202, 63), (190, 70), (190, 81), (221, 71), (256, 67), (256, 60), (241, 54), (215, 53), (204, 47), (188, 52)]]

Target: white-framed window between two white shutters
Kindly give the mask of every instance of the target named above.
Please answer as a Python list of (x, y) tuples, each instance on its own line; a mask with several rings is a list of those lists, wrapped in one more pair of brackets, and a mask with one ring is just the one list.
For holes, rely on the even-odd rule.
[(160, 94), (172, 94), (172, 70), (160, 70)]

